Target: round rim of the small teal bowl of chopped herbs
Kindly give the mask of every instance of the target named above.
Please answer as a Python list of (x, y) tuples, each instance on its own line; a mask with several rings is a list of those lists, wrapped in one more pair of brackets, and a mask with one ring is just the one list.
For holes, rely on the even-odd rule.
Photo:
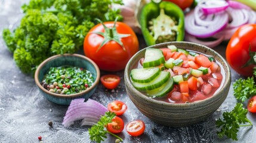
[[(69, 95), (55, 94), (55, 93), (50, 92), (47, 89), (45, 89), (39, 82), (39, 78), (38, 78), (39, 71), (42, 69), (42, 67), (45, 66), (45, 64), (48, 63), (48, 61), (55, 60), (56, 58), (59, 58), (59, 57), (79, 57), (79, 58), (83, 58), (84, 60), (89, 61), (94, 66), (94, 68), (96, 70), (96, 74), (97, 74), (97, 76), (95, 78), (95, 81), (94, 81), (94, 84), (92, 84), (92, 86), (90, 88), (88, 88), (87, 90), (85, 90), (85, 91), (78, 92), (76, 94), (69, 94)], [(53, 56), (47, 58), (46, 60), (44, 60), (41, 64), (39, 64), (38, 68), (35, 71), (35, 82), (36, 82), (36, 85), (38, 86), (38, 88), (40, 88), (42, 91), (46, 92), (47, 94), (49, 94), (53, 97), (58, 97), (58, 98), (73, 98), (73, 97), (82, 96), (82, 95), (86, 94), (87, 92), (90, 92), (91, 90), (93, 90), (98, 85), (99, 81), (100, 81), (100, 69), (98, 68), (97, 64), (94, 61), (92, 61), (90, 58), (85, 57), (84, 55), (80, 55), (80, 54), (58, 54), (58, 55), (53, 55)]]

